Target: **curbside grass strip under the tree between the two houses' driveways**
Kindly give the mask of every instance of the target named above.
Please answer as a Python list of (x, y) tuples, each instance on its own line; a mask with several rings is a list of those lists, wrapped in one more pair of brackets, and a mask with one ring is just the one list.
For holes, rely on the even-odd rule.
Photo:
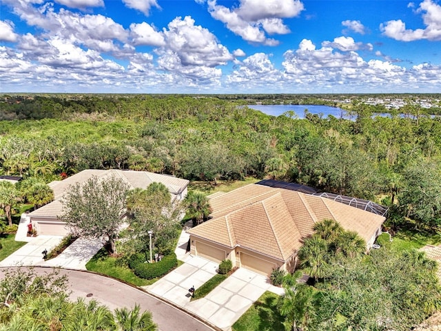
[(85, 265), (85, 268), (90, 271), (99, 272), (100, 274), (106, 274), (107, 276), (121, 279), (127, 283), (136, 286), (150, 285), (158, 279), (142, 279), (136, 276), (132, 270), (119, 263), (119, 259), (110, 257), (104, 248), (101, 248), (94, 257)]

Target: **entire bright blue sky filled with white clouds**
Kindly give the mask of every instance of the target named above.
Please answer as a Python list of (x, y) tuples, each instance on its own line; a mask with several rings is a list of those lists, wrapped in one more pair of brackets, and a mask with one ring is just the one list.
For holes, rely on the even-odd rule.
[(0, 0), (0, 92), (441, 92), (441, 4)]

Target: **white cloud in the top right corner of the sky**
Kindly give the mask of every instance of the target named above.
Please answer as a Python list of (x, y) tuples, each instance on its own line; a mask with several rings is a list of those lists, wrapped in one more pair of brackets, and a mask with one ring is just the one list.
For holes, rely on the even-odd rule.
[(415, 41), (428, 39), (430, 41), (441, 40), (441, 6), (432, 0), (424, 0), (416, 10), (422, 13), (424, 29), (411, 30), (406, 28), (406, 23), (401, 19), (387, 21), (380, 24), (382, 33), (399, 41)]

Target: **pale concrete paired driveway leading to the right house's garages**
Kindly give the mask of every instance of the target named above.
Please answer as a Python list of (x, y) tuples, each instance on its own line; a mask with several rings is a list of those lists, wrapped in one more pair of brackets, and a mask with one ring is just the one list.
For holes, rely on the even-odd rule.
[(190, 302), (188, 289), (199, 288), (216, 274), (218, 264), (201, 257), (187, 256), (185, 263), (145, 289), (158, 297), (193, 312), (205, 321), (222, 329), (232, 325), (265, 291), (282, 294), (264, 277), (239, 268), (220, 283), (207, 297)]

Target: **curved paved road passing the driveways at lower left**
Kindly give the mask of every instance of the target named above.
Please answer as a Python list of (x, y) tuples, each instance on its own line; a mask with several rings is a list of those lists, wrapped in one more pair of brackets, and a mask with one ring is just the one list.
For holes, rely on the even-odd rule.
[[(23, 268), (23, 267), (22, 267)], [(0, 269), (0, 279), (3, 279), (3, 270)], [(34, 268), (35, 272), (44, 274), (52, 271), (52, 268)], [(207, 325), (201, 323), (194, 317), (168, 305), (163, 301), (152, 297), (132, 286), (114, 279), (92, 274), (90, 272), (81, 272), (76, 270), (59, 269), (60, 274), (66, 274), (69, 279), (70, 299), (82, 297), (84, 299), (96, 299), (100, 303), (107, 305), (111, 310), (115, 308), (133, 308), (135, 303), (141, 306), (141, 310), (150, 310), (153, 314), (153, 320), (158, 324), (161, 331), (212, 331)], [(93, 294), (92, 297), (86, 297), (87, 294)]]

